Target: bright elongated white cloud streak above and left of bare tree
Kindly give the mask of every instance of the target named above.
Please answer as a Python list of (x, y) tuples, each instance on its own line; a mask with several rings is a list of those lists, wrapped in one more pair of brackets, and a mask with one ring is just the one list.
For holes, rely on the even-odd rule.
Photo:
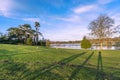
[(81, 14), (96, 9), (97, 9), (97, 5), (86, 5), (86, 6), (79, 6), (77, 8), (74, 8), (73, 12), (76, 14)]

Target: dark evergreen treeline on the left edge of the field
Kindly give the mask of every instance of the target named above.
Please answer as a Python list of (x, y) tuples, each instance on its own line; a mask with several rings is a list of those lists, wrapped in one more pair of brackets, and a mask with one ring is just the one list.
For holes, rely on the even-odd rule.
[[(39, 32), (40, 23), (35, 22), (34, 27), (35, 30), (32, 29), (30, 24), (10, 27), (7, 29), (7, 34), (0, 33), (0, 43), (49, 46), (49, 40), (44, 39), (43, 34)], [(41, 40), (39, 37), (41, 37)]]

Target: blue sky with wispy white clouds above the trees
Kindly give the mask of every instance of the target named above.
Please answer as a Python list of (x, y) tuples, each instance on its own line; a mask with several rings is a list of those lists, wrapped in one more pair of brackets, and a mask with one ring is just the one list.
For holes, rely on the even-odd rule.
[(0, 0), (0, 32), (26, 23), (34, 29), (38, 21), (45, 39), (81, 40), (101, 14), (120, 24), (120, 0)]

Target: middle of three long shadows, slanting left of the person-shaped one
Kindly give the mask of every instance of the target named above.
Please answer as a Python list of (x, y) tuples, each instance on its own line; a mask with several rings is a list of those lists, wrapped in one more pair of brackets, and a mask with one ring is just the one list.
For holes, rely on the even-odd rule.
[(89, 59), (92, 57), (93, 54), (94, 54), (94, 52), (92, 52), (92, 53), (88, 56), (88, 58), (87, 58), (79, 67), (77, 67), (77, 68), (72, 72), (69, 80), (73, 80), (73, 79), (76, 77), (76, 75), (77, 75), (77, 74), (79, 73), (79, 71), (84, 67), (84, 65), (89, 61)]

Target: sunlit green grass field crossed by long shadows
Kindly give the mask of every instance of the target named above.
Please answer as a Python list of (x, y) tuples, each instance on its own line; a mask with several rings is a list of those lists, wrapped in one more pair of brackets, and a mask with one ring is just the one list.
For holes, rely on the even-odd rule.
[(0, 80), (120, 80), (120, 50), (0, 44)]

